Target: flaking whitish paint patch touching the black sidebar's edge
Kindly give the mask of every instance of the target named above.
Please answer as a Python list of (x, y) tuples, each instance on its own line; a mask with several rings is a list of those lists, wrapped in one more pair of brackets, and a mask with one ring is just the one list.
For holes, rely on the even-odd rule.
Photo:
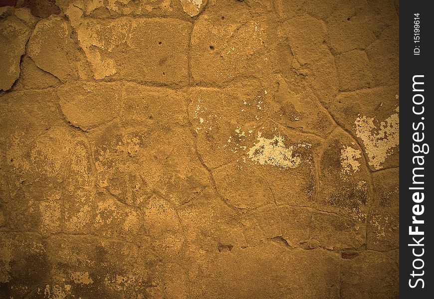
[(369, 165), (380, 169), (386, 158), (393, 153), (393, 148), (399, 146), (399, 106), (397, 113), (388, 117), (379, 126), (374, 123), (374, 118), (360, 116), (356, 119), (356, 135), (365, 146), (369, 158)]

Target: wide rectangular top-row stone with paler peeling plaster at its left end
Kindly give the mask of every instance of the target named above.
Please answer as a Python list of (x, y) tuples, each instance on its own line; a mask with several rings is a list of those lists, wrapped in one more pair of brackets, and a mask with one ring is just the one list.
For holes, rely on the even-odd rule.
[(191, 23), (177, 19), (83, 19), (75, 28), (93, 77), (186, 85)]

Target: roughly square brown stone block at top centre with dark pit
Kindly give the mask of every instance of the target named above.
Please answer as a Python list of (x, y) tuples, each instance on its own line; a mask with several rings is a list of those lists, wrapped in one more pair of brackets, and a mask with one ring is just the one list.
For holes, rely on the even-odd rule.
[(243, 77), (271, 75), (277, 67), (275, 22), (270, 14), (253, 16), (243, 3), (216, 1), (193, 28), (193, 80), (222, 85)]

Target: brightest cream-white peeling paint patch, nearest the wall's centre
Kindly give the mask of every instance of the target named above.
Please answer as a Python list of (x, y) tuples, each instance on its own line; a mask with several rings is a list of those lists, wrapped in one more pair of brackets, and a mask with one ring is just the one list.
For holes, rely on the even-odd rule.
[(295, 149), (310, 147), (310, 144), (298, 144), (286, 147), (282, 136), (267, 139), (258, 132), (257, 142), (249, 149), (247, 156), (261, 165), (268, 164), (282, 168), (295, 168), (302, 162), (302, 157), (294, 153)]

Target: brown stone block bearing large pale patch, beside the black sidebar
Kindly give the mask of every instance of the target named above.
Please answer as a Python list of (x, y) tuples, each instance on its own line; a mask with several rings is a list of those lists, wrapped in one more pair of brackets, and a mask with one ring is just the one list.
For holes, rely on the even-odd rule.
[(357, 138), (371, 169), (399, 165), (398, 85), (341, 93), (329, 111)]

